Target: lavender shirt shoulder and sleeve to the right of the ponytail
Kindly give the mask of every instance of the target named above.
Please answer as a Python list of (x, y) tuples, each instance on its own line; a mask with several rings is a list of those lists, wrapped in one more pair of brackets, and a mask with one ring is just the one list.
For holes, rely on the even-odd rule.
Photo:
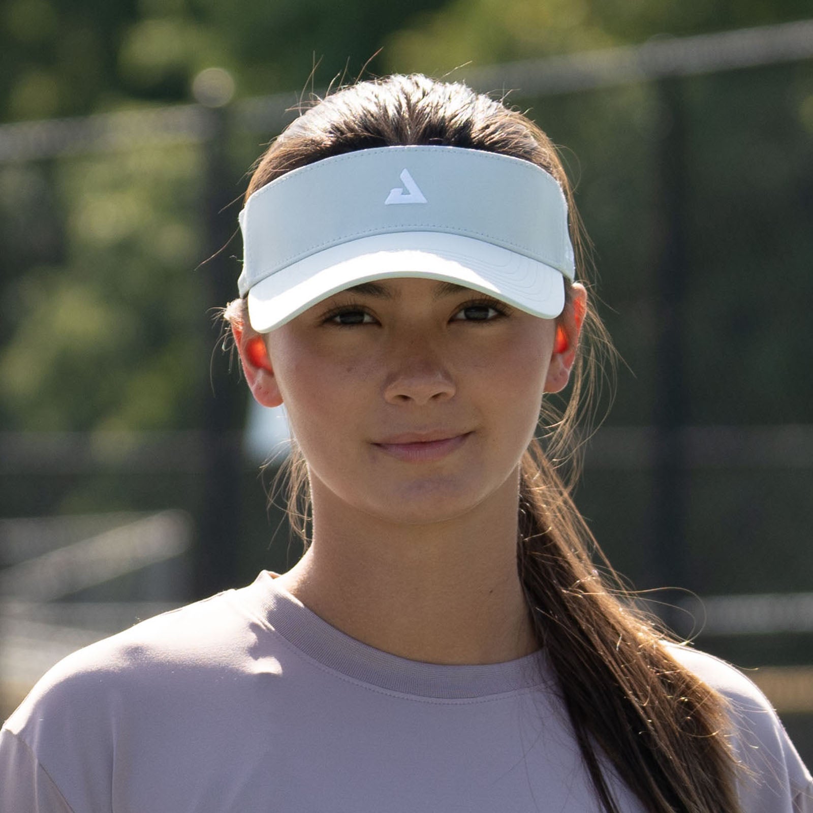
[(728, 731), (741, 764), (746, 811), (813, 811), (813, 780), (771, 702), (730, 663), (689, 646), (667, 650), (728, 704)]

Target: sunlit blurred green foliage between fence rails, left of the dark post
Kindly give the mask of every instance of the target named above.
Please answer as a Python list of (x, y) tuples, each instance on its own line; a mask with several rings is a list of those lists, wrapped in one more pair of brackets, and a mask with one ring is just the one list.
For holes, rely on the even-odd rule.
[(62, 220), (65, 260), (29, 269), (3, 292), (16, 315), (0, 350), (6, 428), (196, 424), (207, 366), (192, 272), (204, 259), (201, 175), (192, 148), (59, 163), (61, 207), (51, 215)]

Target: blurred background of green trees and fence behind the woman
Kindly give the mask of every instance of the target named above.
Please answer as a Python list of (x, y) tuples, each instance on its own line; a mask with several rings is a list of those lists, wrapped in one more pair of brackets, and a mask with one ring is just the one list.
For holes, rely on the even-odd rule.
[[(239, 11), (236, 11), (239, 9)], [(466, 80), (562, 145), (624, 359), (577, 502), (813, 764), (813, 20), (802, 0), (5, 0), (0, 714), (78, 646), (284, 571), (284, 416), (221, 350), (300, 102)]]

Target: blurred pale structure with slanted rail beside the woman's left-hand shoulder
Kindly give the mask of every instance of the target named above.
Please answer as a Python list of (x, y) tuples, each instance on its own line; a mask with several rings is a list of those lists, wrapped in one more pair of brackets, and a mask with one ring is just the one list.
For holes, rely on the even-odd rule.
[(0, 520), (0, 703), (67, 654), (189, 596), (184, 511)]

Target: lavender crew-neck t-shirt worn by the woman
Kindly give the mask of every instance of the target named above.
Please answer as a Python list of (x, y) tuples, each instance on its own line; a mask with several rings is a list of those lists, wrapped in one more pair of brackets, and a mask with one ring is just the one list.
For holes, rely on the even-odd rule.
[[(813, 813), (759, 690), (730, 698), (746, 813)], [(642, 813), (607, 769), (624, 813)], [(0, 732), (0, 813), (599, 813), (544, 655), (441, 666), (372, 649), (261, 573), (70, 655)]]

